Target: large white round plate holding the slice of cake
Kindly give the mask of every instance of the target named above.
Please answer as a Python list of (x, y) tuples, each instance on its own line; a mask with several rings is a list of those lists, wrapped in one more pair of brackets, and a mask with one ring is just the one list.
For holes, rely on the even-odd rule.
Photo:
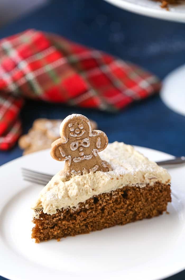
[[(172, 156), (137, 147), (151, 160)], [(0, 275), (11, 280), (163, 279), (185, 269), (185, 167), (172, 176), (170, 214), (102, 231), (34, 243), (31, 204), (42, 186), (25, 182), (21, 167), (54, 174), (62, 162), (48, 150), (0, 167)]]

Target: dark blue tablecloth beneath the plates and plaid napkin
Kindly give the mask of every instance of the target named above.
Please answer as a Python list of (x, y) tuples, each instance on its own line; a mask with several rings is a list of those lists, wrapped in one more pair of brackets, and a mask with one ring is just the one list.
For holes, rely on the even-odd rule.
[[(0, 29), (0, 38), (27, 28), (54, 32), (104, 50), (145, 67), (161, 79), (185, 63), (184, 24), (129, 13), (103, 0), (52, 1)], [(158, 95), (117, 114), (27, 101), (21, 113), (24, 133), (36, 118), (63, 118), (74, 112), (97, 121), (110, 142), (124, 141), (177, 156), (185, 155), (185, 117), (168, 109)], [(0, 165), (21, 155), (18, 146), (0, 152)], [(4, 278), (0, 276), (1, 279)], [(185, 271), (168, 278), (178, 279), (185, 279)]]

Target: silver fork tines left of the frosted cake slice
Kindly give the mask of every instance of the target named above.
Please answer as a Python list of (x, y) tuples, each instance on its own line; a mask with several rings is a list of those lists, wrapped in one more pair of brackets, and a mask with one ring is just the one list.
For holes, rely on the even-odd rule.
[(22, 176), (25, 181), (39, 185), (46, 185), (53, 177), (51, 174), (45, 174), (27, 168), (22, 168)]

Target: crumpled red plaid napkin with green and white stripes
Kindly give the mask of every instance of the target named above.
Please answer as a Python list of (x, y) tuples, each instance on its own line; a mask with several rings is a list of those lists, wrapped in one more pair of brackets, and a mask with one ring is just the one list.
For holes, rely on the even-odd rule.
[(0, 149), (21, 134), (24, 97), (115, 111), (160, 88), (158, 78), (129, 62), (27, 30), (0, 40)]

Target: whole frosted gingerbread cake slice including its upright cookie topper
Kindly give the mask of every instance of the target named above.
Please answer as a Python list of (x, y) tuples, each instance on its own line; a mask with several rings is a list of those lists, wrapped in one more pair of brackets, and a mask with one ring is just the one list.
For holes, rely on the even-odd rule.
[[(65, 167), (33, 206), (36, 242), (60, 239), (158, 216), (171, 201), (170, 175), (132, 146), (92, 130), (82, 115), (60, 126), (51, 155)], [(99, 153), (100, 152), (100, 153)]]

